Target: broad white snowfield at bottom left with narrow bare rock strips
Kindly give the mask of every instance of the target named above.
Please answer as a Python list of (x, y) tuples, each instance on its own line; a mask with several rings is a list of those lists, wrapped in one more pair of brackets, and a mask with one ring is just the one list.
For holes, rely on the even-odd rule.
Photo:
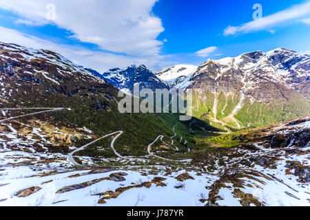
[[(25, 172), (24, 167), (16, 168), (15, 172)], [(178, 173), (165, 176), (163, 184), (167, 186), (142, 186), (131, 188), (116, 199), (106, 199), (107, 203), (99, 204), (102, 196), (99, 193), (107, 191), (116, 191), (117, 188), (125, 186), (139, 186), (145, 182), (150, 182), (154, 177), (163, 176), (164, 173), (145, 175), (142, 171), (122, 170), (125, 175), (124, 181), (102, 180), (85, 188), (71, 190), (69, 192), (57, 193), (65, 186), (82, 184), (94, 179), (109, 177), (112, 173), (90, 174), (91, 170), (81, 170), (57, 175), (48, 175), (45, 177), (28, 177), (20, 179), (11, 179), (10, 175), (0, 181), (1, 206), (202, 206), (199, 199), (207, 198), (207, 182), (211, 183), (217, 177), (208, 177), (206, 175), (197, 176), (195, 173), (189, 173), (194, 179), (178, 181), (174, 177)], [(102, 170), (105, 172), (105, 170)], [(73, 177), (70, 177), (73, 176)], [(41, 189), (28, 197), (14, 196), (19, 190), (39, 186)], [(61, 202), (59, 202), (61, 201)], [(58, 203), (57, 203), (58, 202)]]

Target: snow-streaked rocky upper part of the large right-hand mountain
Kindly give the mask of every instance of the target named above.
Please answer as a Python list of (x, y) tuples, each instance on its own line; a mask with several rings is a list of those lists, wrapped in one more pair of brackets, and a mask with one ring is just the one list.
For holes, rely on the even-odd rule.
[[(276, 84), (296, 91), (306, 89), (309, 93), (309, 87), (304, 86), (309, 85), (309, 69), (309, 55), (285, 49), (249, 52), (235, 58), (209, 59), (189, 79), (189, 87), (207, 87), (217, 93), (240, 91), (241, 96), (252, 100), (267, 100), (273, 98), (269, 91), (274, 91)], [(269, 87), (265, 88), (267, 84)]]

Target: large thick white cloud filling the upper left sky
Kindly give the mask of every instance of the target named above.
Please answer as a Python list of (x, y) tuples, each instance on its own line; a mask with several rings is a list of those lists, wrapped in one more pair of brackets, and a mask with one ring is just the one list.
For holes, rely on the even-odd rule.
[[(15, 22), (27, 25), (54, 23), (70, 30), (76, 39), (99, 45), (103, 50), (132, 56), (158, 56), (164, 28), (152, 14), (157, 0), (10, 0), (0, 1), (0, 8), (18, 17)], [(56, 17), (50, 21), (47, 5), (55, 5)]]

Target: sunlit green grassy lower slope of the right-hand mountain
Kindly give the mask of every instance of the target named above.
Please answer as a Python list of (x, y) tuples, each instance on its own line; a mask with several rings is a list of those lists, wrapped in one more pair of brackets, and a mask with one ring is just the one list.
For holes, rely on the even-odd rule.
[[(283, 91), (283, 94), (285, 99), (271, 100), (268, 104), (251, 102), (247, 98), (234, 118), (245, 129), (310, 115), (310, 101), (307, 98), (291, 91)], [(240, 101), (240, 97), (233, 94), (225, 95), (222, 92), (217, 94), (217, 100), (216, 120), (220, 120), (224, 124), (214, 123), (214, 94), (208, 90), (200, 91), (199, 94), (194, 92), (193, 115), (220, 129), (224, 129), (224, 127), (230, 130), (236, 129), (237, 124), (231, 120), (230, 115)]]

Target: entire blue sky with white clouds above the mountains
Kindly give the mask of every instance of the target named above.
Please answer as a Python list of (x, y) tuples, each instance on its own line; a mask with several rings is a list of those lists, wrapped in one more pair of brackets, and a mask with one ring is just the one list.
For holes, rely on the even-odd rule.
[[(254, 21), (260, 3), (262, 18)], [(310, 1), (11, 0), (0, 2), (0, 41), (59, 52), (99, 72), (153, 71), (286, 47), (310, 51)]]

